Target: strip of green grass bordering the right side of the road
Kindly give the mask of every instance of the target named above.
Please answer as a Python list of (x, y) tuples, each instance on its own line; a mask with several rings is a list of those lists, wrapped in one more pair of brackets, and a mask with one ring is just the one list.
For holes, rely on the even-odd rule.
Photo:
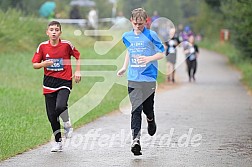
[(229, 62), (236, 66), (242, 73), (242, 82), (252, 91), (252, 60), (242, 55), (237, 48), (229, 42), (205, 39), (199, 46), (216, 51), (228, 57)]

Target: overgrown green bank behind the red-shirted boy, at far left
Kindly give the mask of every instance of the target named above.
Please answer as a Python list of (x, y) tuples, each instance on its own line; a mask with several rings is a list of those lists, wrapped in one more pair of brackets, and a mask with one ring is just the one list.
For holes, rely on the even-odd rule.
[(34, 50), (37, 45), (46, 40), (45, 22), (35, 17), (22, 17), (20, 11), (0, 10), (0, 52), (26, 52)]

